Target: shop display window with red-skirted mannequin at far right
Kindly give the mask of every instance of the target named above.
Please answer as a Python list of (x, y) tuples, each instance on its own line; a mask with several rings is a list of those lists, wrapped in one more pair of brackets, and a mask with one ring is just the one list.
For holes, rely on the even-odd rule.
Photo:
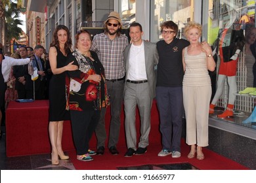
[(245, 117), (255, 107), (255, 40), (254, 0), (209, 1), (207, 41), (218, 55), (217, 90), (212, 103), (225, 109), (234, 106), (233, 111)]

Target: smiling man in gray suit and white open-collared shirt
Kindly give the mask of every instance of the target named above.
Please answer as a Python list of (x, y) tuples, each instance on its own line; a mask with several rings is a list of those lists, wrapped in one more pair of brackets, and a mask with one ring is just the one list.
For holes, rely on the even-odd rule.
[[(150, 113), (152, 100), (155, 97), (156, 75), (154, 66), (158, 64), (158, 50), (156, 44), (142, 40), (142, 26), (134, 22), (129, 27), (132, 44), (124, 51), (126, 67), (124, 107), (125, 107), (125, 135), (127, 152), (125, 157), (133, 154), (144, 154), (147, 150), (148, 135), (150, 133)], [(140, 142), (137, 149), (136, 107), (140, 112)]]

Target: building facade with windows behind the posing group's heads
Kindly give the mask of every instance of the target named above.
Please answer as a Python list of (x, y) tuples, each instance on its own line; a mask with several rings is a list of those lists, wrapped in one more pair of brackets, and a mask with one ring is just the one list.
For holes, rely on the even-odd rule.
[[(102, 31), (102, 23), (109, 12), (119, 12), (123, 21), (123, 28), (131, 22), (142, 24), (143, 39), (157, 42), (161, 39), (160, 25), (162, 22), (172, 20), (179, 25), (177, 37), (184, 38), (183, 29), (187, 22), (195, 21), (203, 25), (202, 41), (207, 41), (218, 48), (221, 33), (227, 27), (224, 44), (230, 44), (232, 30), (242, 30), (245, 38), (249, 29), (255, 28), (255, 1), (244, 0), (24, 0), (27, 8), (27, 34), (29, 44), (43, 45), (49, 50), (49, 44), (56, 25), (64, 24), (71, 32), (72, 41), (79, 29), (98, 29)], [(38, 22), (39, 21), (39, 22)], [(256, 31), (250, 32), (252, 39), (256, 39)], [(222, 40), (223, 41), (223, 40)], [(251, 71), (246, 67), (245, 50), (248, 49), (247, 40), (240, 52), (236, 71), (237, 91), (242, 91), (253, 78)], [(48, 52), (48, 51), (47, 51)], [(219, 54), (217, 49), (217, 55)], [(217, 69), (211, 73), (213, 94), (217, 86), (219, 57), (216, 59)], [(247, 71), (248, 70), (248, 71)], [(225, 108), (228, 103), (228, 82), (225, 82), (224, 92), (217, 106)], [(255, 106), (255, 96), (236, 95), (234, 109), (242, 112), (252, 112)]]

